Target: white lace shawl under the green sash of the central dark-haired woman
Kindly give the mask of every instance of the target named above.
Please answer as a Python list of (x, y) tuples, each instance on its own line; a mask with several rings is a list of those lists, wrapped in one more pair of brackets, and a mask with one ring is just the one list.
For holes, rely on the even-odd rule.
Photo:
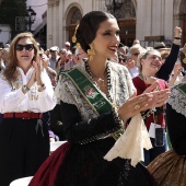
[[(109, 95), (113, 100), (113, 104), (117, 106), (121, 106), (136, 91), (130, 74), (128, 70), (115, 62), (108, 61), (108, 68), (111, 69), (111, 82), (112, 88), (109, 90)], [(74, 66), (74, 68), (80, 69), (81, 71), (85, 71), (84, 62)], [(86, 73), (89, 77), (89, 74)], [(95, 82), (93, 84), (96, 86)], [(102, 93), (102, 92), (101, 92)], [(78, 107), (81, 113), (82, 120), (89, 120), (97, 116), (96, 113), (91, 108), (84, 97), (79, 93), (77, 88), (73, 85), (71, 80), (61, 73), (59, 77), (58, 84), (55, 90), (55, 94), (57, 97), (58, 104), (60, 101), (69, 104), (73, 104)], [(106, 95), (102, 93), (105, 98)]]

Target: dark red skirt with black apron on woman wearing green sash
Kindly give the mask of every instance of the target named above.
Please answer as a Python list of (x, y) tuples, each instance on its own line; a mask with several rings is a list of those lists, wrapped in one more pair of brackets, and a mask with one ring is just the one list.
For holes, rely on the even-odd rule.
[(113, 143), (113, 138), (83, 146), (63, 143), (43, 163), (28, 186), (152, 186), (150, 174), (140, 163), (132, 167), (125, 159), (103, 159)]

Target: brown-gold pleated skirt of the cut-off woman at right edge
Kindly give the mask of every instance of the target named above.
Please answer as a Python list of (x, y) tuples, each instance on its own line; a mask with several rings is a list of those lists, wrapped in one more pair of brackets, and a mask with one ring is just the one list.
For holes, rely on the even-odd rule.
[(162, 153), (148, 166), (158, 186), (186, 186), (186, 158), (174, 150)]

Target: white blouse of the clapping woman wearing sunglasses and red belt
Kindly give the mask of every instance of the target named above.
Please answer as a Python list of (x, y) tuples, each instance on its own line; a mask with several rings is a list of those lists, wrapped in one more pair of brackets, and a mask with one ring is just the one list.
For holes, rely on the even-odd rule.
[(32, 75), (32, 67), (26, 74), (21, 68), (16, 68), (19, 77), (12, 82), (12, 85), (0, 74), (0, 113), (22, 113), (34, 112), (44, 113), (51, 111), (56, 105), (54, 89), (47, 72), (42, 72), (42, 82), (46, 89), (43, 92), (37, 91), (37, 84), (34, 83), (31, 90), (24, 94), (22, 86), (26, 84)]

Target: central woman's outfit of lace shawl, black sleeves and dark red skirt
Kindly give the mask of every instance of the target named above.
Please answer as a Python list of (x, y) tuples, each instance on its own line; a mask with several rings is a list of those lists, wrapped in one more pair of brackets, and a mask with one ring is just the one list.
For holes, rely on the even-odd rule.
[[(73, 68), (83, 71), (98, 89), (86, 62)], [(113, 105), (121, 106), (136, 91), (128, 70), (120, 65), (107, 62), (107, 96), (100, 92)], [(94, 96), (94, 92), (89, 90), (88, 95)], [(126, 159), (104, 160), (116, 141), (114, 137), (117, 135), (114, 133), (125, 130), (125, 126), (117, 123), (114, 111), (98, 115), (63, 73), (56, 88), (56, 96), (61, 106), (68, 142), (48, 158), (30, 186), (47, 186), (47, 183), (50, 183), (49, 186), (153, 185), (151, 176), (140, 163), (133, 167)]]

